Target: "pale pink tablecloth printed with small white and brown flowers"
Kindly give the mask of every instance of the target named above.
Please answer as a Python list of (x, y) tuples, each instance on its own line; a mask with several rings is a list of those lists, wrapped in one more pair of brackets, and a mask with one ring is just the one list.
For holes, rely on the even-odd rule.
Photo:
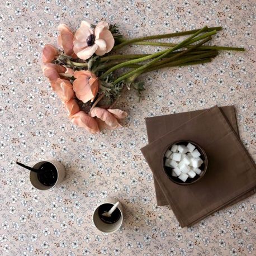
[[(121, 97), (124, 127), (90, 135), (68, 121), (43, 77), (41, 50), (56, 44), (58, 24), (117, 23), (126, 37), (223, 26), (224, 51), (212, 63), (164, 69), (141, 77), (146, 91)], [(153, 176), (140, 153), (145, 117), (235, 105), (241, 140), (255, 156), (255, 1), (1, 1), (0, 255), (255, 255), (255, 195), (184, 229), (169, 207), (157, 207)], [(133, 46), (127, 53), (160, 48)], [(63, 186), (40, 192), (16, 160), (57, 159)], [(118, 197), (124, 225), (106, 235), (92, 209)]]

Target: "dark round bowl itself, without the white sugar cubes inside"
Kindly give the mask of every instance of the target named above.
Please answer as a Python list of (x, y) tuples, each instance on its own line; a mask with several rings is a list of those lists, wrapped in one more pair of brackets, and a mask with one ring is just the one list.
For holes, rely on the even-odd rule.
[(167, 174), (168, 178), (174, 182), (174, 183), (177, 183), (179, 185), (189, 185), (189, 184), (193, 184), (195, 182), (198, 182), (200, 181), (200, 179), (205, 175), (206, 173), (206, 169), (207, 169), (207, 164), (208, 164), (208, 159), (207, 159), (207, 155), (205, 153), (205, 150), (203, 150), (201, 148), (200, 145), (198, 145), (197, 143), (193, 142), (193, 141), (189, 141), (189, 140), (179, 140), (179, 141), (176, 141), (175, 143), (172, 143), (170, 144), (167, 149), (164, 151), (164, 155), (166, 153), (166, 151), (170, 148), (172, 148), (172, 145), (176, 144), (176, 145), (187, 145), (188, 143), (191, 143), (193, 144), (194, 146), (196, 146), (196, 149), (200, 152), (201, 156), (200, 158), (203, 160), (203, 163), (202, 165), (199, 167), (199, 169), (202, 171), (200, 173), (200, 175), (196, 174), (196, 176), (194, 178), (187, 178), (187, 181), (186, 182), (183, 182), (181, 181), (181, 179), (179, 179), (178, 177), (174, 177), (172, 176), (172, 169), (171, 167), (167, 167), (164, 165), (164, 162), (165, 162), (165, 159), (166, 157), (164, 156), (163, 157), (163, 169), (164, 169), (164, 172)]

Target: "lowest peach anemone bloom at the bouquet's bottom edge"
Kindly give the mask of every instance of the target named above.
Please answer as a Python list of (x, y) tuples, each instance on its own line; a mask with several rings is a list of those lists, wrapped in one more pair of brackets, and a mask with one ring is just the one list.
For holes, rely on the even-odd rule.
[(83, 111), (75, 113), (70, 118), (74, 125), (82, 127), (87, 131), (91, 132), (92, 134), (99, 132), (99, 127), (96, 120), (91, 116), (86, 115), (86, 113), (84, 113)]

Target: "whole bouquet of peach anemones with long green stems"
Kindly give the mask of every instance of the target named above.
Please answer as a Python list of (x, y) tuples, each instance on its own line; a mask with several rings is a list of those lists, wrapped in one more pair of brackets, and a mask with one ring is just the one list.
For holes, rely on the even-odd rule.
[[(139, 75), (161, 68), (207, 63), (219, 50), (244, 51), (244, 48), (206, 44), (219, 30), (221, 27), (205, 26), (127, 40), (116, 25), (108, 25), (105, 21), (96, 26), (82, 21), (75, 33), (67, 25), (60, 24), (58, 45), (62, 51), (45, 45), (42, 71), (74, 125), (92, 133), (103, 128), (116, 129), (127, 113), (113, 106), (125, 89), (136, 89), (139, 95), (143, 92), (144, 83), (137, 80)], [(152, 41), (185, 35), (188, 37), (178, 44)], [(165, 46), (166, 49), (153, 54), (120, 52), (130, 44)]]

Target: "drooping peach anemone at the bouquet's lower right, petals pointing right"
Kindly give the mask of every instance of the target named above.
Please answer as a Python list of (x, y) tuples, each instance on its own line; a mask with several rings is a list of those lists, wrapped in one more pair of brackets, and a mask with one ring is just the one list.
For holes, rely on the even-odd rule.
[(118, 119), (123, 119), (127, 116), (127, 113), (122, 110), (105, 110), (104, 108), (94, 107), (91, 111), (92, 117), (98, 117), (97, 122), (98, 125), (102, 128), (107, 129), (116, 129), (118, 127), (122, 127)]

